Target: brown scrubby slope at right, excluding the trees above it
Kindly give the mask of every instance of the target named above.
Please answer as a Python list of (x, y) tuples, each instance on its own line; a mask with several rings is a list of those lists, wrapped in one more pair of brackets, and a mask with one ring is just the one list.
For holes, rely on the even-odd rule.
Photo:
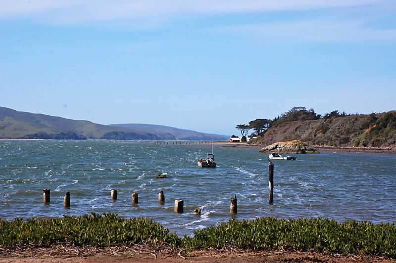
[(277, 122), (255, 144), (302, 140), (312, 145), (396, 147), (396, 111)]

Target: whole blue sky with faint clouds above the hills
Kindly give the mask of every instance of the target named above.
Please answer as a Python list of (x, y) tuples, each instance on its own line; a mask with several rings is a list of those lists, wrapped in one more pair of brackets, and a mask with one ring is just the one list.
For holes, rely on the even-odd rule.
[(396, 110), (396, 1), (0, 0), (0, 106), (226, 135)]

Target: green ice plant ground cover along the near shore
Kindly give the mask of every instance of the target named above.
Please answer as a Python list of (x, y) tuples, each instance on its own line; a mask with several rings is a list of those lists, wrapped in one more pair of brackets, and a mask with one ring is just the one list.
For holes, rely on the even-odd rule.
[(0, 248), (67, 242), (73, 245), (158, 247), (187, 251), (232, 246), (254, 250), (315, 250), (324, 254), (396, 257), (396, 222), (337, 222), (332, 219), (231, 219), (178, 237), (152, 219), (123, 219), (117, 214), (64, 216), (53, 219), (0, 219)]

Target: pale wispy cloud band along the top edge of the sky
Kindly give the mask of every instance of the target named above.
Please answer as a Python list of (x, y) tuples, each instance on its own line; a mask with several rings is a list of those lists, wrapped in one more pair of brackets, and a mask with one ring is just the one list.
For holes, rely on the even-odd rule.
[(392, 4), (390, 0), (0, 0), (0, 19), (35, 17), (52, 23), (166, 19), (186, 14), (311, 10)]

